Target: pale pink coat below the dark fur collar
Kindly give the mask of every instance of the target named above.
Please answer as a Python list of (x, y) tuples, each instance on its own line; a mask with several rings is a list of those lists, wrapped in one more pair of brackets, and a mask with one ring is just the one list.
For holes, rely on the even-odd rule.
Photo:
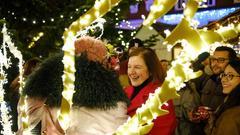
[[(41, 133), (43, 135), (65, 135), (57, 119), (59, 108), (50, 108), (44, 105), (44, 100), (28, 98), (29, 103), (27, 115), (29, 126), (32, 130), (41, 123)], [(19, 121), (22, 116), (19, 113)], [(112, 134), (116, 129), (126, 122), (127, 105), (118, 102), (116, 108), (109, 110), (90, 109), (86, 107), (73, 107), (70, 112), (70, 125), (66, 135), (106, 135)], [(38, 134), (38, 133), (37, 133)], [(17, 135), (23, 135), (22, 126)]]

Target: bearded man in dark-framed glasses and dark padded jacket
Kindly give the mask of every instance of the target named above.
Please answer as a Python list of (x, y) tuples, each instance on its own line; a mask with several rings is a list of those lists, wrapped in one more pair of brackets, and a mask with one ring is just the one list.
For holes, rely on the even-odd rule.
[(224, 95), (222, 93), (222, 85), (219, 75), (224, 71), (228, 62), (236, 59), (236, 52), (227, 46), (219, 46), (215, 49), (213, 56), (210, 57), (210, 68), (213, 75), (209, 76), (201, 91), (201, 103), (216, 110), (223, 102)]

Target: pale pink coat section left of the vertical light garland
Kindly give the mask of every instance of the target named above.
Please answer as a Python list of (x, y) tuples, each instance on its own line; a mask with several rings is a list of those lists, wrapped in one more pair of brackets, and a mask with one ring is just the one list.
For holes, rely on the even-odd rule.
[[(20, 98), (20, 102), (23, 100)], [(38, 98), (26, 98), (26, 114), (28, 116), (28, 126), (30, 131), (35, 131), (35, 127), (41, 123), (41, 128), (39, 129), (42, 135), (64, 135), (64, 131), (61, 128), (57, 120), (57, 112), (59, 108), (48, 107), (45, 105), (45, 99)], [(22, 127), (22, 116), (23, 112), (20, 110), (18, 105), (18, 126), (19, 129), (16, 135), (24, 135)], [(39, 133), (37, 133), (39, 134)]]

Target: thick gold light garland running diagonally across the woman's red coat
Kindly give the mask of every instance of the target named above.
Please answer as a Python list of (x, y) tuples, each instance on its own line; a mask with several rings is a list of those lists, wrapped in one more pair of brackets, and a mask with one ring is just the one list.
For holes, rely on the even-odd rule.
[[(154, 95), (150, 95), (146, 103), (142, 105), (141, 108), (138, 108), (136, 114), (119, 127), (115, 134), (142, 135), (148, 133), (153, 126), (151, 121), (157, 116), (166, 114), (166, 111), (160, 108), (161, 105), (167, 100), (177, 97), (176, 90), (184, 86), (183, 82), (201, 75), (201, 71), (194, 73), (193, 70), (189, 68), (190, 61), (193, 60), (199, 52), (209, 48), (207, 41), (201, 37), (198, 30), (190, 26), (199, 2), (200, 1), (195, 0), (188, 1), (182, 22), (164, 41), (164, 44), (172, 47), (176, 43), (181, 42), (184, 50), (187, 51), (181, 52), (177, 60), (172, 62), (172, 67), (168, 70), (167, 77), (161, 88), (158, 88)], [(154, 19), (157, 18), (153, 18), (153, 20)], [(233, 36), (227, 34), (226, 37)], [(134, 127), (134, 130), (132, 127)]]

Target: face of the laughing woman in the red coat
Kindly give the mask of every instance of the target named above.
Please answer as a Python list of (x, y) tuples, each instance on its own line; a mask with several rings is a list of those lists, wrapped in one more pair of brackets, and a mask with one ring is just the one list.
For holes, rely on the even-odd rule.
[(129, 58), (128, 77), (134, 87), (141, 85), (149, 78), (149, 71), (142, 57), (132, 56)]

